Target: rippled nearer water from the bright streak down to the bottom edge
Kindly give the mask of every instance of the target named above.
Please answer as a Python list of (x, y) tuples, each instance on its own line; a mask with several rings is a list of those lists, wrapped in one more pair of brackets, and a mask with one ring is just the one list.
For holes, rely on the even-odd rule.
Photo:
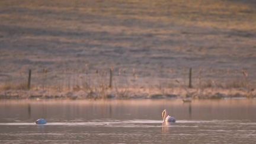
[(252, 138), (256, 136), (256, 129), (252, 129), (255, 125), (246, 120), (178, 120), (177, 123), (164, 125), (162, 120), (137, 119), (49, 122), (40, 126), (18, 122), (0, 123), (6, 130), (23, 127), (15, 133), (0, 133), (0, 137), (3, 137), (1, 142), (7, 143), (19, 143), (17, 139), (25, 139), (28, 143), (37, 142), (37, 139), (50, 143), (97, 143), (101, 140), (108, 143), (228, 143), (247, 140), (249, 143), (255, 142)]

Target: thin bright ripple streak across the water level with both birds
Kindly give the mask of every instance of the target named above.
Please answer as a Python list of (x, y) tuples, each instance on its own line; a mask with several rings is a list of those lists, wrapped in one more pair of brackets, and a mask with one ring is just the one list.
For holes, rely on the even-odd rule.
[[(194, 124), (194, 126), (193, 126)], [(225, 125), (251, 125), (256, 126), (256, 123), (251, 123), (248, 121), (242, 120), (178, 120), (176, 123), (167, 123), (165, 126), (171, 127), (198, 127), (197, 125), (201, 124), (216, 124), (216, 126)], [(33, 123), (0, 123), (0, 126), (29, 126), (37, 125)], [(162, 120), (95, 120), (95, 121), (86, 121), (86, 122), (49, 122), (44, 124), (45, 126), (111, 126), (111, 127), (162, 127)]]

